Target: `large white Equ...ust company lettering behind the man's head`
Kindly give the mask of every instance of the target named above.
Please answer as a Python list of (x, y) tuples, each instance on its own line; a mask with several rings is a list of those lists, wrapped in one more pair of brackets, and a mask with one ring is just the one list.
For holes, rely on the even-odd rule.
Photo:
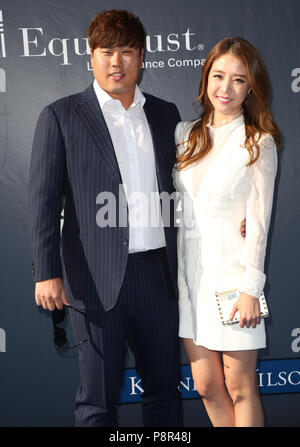
[[(88, 56), (90, 54), (87, 38), (59, 38), (54, 37), (45, 45), (43, 28), (19, 28), (23, 43), (21, 57), (45, 57), (49, 54), (59, 58), (60, 65), (72, 65), (71, 56)], [(184, 33), (154, 34), (146, 37), (146, 60), (144, 69), (159, 69), (164, 67), (197, 68), (203, 65), (205, 59), (199, 57), (204, 50), (203, 43), (199, 43), (196, 33), (189, 28)], [(187, 58), (175, 57), (178, 51), (188, 54)], [(172, 55), (172, 57), (170, 57)], [(196, 55), (196, 57), (194, 57)], [(153, 56), (155, 60), (152, 60)], [(92, 70), (90, 61), (87, 69)]]

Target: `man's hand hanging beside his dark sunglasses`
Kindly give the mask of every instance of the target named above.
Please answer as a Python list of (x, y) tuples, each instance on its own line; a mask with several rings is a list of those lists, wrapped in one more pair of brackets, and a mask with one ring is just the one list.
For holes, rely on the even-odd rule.
[(65, 287), (61, 278), (47, 279), (38, 281), (35, 284), (35, 302), (44, 309), (54, 310), (62, 309), (63, 306), (69, 306)]

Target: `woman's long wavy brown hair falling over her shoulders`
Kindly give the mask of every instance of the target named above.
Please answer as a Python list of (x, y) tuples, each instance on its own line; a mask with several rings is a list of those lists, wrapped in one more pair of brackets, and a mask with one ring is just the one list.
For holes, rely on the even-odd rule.
[[(177, 169), (181, 170), (191, 163), (205, 157), (212, 149), (213, 141), (209, 134), (209, 123), (213, 106), (207, 95), (208, 76), (216, 59), (230, 53), (238, 57), (247, 70), (251, 93), (243, 103), (246, 139), (244, 147), (249, 152), (248, 166), (255, 163), (260, 155), (258, 141), (263, 133), (272, 135), (277, 148), (280, 145), (280, 131), (269, 108), (270, 83), (265, 65), (256, 48), (241, 37), (227, 37), (211, 50), (203, 66), (199, 96), (195, 102), (202, 106), (200, 120), (193, 125), (185, 151), (177, 156)], [(256, 151), (254, 151), (254, 147)]]

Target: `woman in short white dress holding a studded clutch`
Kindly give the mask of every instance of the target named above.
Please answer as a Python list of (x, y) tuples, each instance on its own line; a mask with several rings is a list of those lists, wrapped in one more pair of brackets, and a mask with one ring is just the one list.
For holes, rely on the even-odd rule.
[[(259, 296), (280, 132), (257, 50), (226, 38), (208, 55), (197, 101), (202, 114), (181, 122), (174, 183), (178, 229), (180, 331), (195, 387), (214, 426), (263, 426), (257, 350), (266, 346)], [(240, 222), (246, 218), (246, 237)], [(216, 291), (241, 294), (223, 326)]]

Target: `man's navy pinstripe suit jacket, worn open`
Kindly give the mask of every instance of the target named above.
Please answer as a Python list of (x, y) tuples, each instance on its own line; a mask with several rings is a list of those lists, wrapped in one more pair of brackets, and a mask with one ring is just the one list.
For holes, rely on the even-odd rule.
[[(180, 116), (174, 104), (148, 94), (145, 97), (159, 190), (171, 194), (174, 129)], [(124, 195), (119, 185), (122, 179), (114, 147), (93, 86), (47, 106), (37, 122), (30, 164), (33, 274), (35, 281), (63, 278), (70, 304), (80, 309), (109, 310), (119, 295), (129, 244), (127, 221), (119, 224), (119, 197)], [(96, 198), (102, 191), (116, 198), (113, 227), (100, 228), (96, 223)], [(124, 203), (124, 197), (120, 199)], [(178, 295), (173, 211), (171, 203), (170, 225), (164, 230)]]

